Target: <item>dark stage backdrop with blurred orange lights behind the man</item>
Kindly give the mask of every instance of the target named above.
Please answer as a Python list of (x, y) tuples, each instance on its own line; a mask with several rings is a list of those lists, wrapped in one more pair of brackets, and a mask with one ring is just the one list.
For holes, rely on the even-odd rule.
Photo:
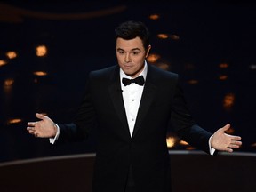
[[(210, 132), (230, 123), (231, 133), (243, 138), (237, 151), (254, 152), (255, 8), (249, 1), (213, 0), (0, 1), (0, 60), (7, 63), (0, 65), (0, 161), (95, 152), (96, 131), (83, 143), (52, 146), (29, 135), (26, 124), (36, 121), (36, 112), (56, 123), (72, 121), (88, 73), (116, 65), (114, 29), (124, 20), (148, 25), (151, 53), (161, 56), (152, 64), (180, 74), (197, 123)], [(152, 14), (159, 19), (150, 20)], [(159, 39), (161, 33), (180, 38)], [(37, 57), (41, 44), (48, 52)], [(18, 56), (8, 59), (9, 51)], [(220, 68), (223, 63), (228, 67)], [(227, 95), (234, 99), (229, 108), (223, 106)], [(180, 148), (187, 150), (179, 144), (172, 149)]]

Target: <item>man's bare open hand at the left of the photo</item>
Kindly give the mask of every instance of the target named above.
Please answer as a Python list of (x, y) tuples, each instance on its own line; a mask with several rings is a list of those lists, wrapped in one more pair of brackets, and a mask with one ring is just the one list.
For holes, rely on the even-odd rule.
[(36, 113), (36, 117), (41, 119), (36, 122), (28, 122), (27, 130), (30, 134), (40, 138), (52, 138), (55, 137), (57, 127), (48, 116)]

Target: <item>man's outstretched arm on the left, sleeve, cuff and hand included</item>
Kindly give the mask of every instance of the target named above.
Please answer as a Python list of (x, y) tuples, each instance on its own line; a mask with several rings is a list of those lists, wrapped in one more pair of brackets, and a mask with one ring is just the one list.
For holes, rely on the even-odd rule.
[(40, 121), (28, 122), (28, 132), (35, 135), (35, 137), (50, 138), (51, 143), (55, 143), (57, 139), (64, 142), (84, 140), (95, 124), (95, 110), (88, 84), (87, 82), (84, 100), (82, 100), (77, 110), (74, 123), (57, 125), (48, 116), (36, 113), (36, 117)]

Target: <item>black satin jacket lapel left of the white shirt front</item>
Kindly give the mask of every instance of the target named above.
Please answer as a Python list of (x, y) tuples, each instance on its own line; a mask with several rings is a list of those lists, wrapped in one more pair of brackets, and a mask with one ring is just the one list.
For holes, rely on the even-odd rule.
[(119, 116), (120, 121), (124, 125), (124, 128), (130, 136), (129, 126), (126, 119), (126, 113), (124, 108), (124, 100), (121, 90), (119, 68), (116, 68), (113, 76), (111, 76), (111, 82), (108, 87), (109, 95), (112, 99), (113, 105), (116, 108), (116, 115)]

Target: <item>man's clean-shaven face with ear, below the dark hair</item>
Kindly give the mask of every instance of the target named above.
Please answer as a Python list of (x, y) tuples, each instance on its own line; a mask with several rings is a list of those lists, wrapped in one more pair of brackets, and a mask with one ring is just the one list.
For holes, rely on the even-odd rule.
[(144, 68), (144, 60), (148, 57), (148, 50), (145, 50), (140, 37), (131, 40), (123, 38), (116, 39), (116, 58), (118, 65), (127, 76), (132, 78), (138, 76)]

